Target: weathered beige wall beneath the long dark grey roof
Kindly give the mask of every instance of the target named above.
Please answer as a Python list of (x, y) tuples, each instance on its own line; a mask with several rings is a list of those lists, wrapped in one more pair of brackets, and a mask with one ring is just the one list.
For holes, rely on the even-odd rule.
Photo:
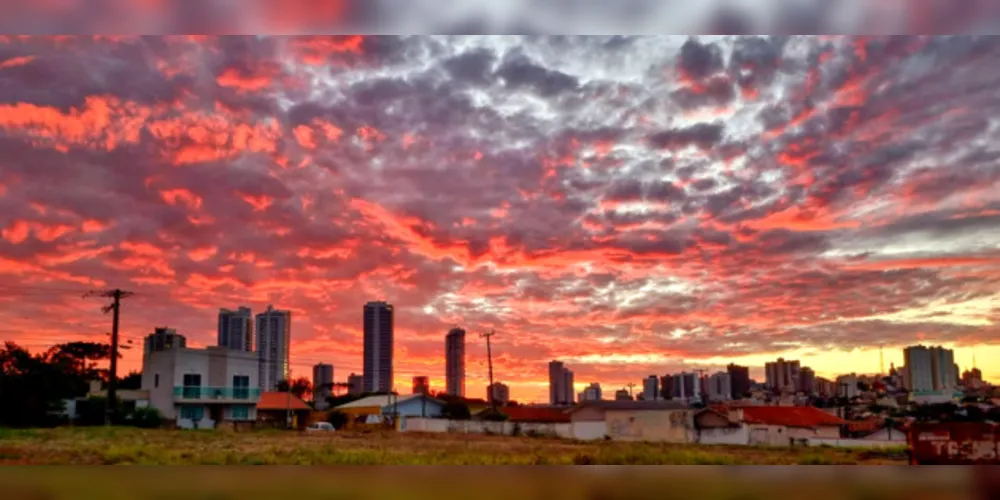
[(690, 410), (608, 410), (607, 434), (619, 441), (690, 443), (695, 440)]

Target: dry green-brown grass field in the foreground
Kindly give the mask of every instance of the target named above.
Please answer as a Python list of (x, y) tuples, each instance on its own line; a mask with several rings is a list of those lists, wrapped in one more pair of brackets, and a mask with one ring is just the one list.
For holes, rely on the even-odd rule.
[(905, 464), (900, 450), (749, 448), (418, 433), (0, 429), (0, 465)]

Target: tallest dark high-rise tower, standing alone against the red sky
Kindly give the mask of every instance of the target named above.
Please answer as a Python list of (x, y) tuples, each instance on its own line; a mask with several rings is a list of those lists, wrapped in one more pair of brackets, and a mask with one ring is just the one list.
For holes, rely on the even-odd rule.
[(393, 390), (393, 308), (386, 302), (365, 304), (365, 392), (388, 394)]

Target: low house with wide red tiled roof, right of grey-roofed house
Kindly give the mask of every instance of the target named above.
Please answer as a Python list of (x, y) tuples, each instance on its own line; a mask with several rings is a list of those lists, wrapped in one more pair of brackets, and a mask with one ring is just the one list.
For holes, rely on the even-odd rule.
[(701, 444), (789, 446), (839, 439), (844, 420), (812, 406), (714, 406), (694, 415)]

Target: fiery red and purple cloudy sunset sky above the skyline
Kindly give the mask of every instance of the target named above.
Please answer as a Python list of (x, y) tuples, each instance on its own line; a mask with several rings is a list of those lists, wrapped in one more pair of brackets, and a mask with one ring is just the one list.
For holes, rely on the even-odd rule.
[[(4, 37), (0, 339), (212, 345), (292, 311), (293, 376), (547, 398), (799, 359), (821, 376), (973, 354), (1000, 382), (1000, 40)], [(125, 370), (141, 367), (141, 347)]]

